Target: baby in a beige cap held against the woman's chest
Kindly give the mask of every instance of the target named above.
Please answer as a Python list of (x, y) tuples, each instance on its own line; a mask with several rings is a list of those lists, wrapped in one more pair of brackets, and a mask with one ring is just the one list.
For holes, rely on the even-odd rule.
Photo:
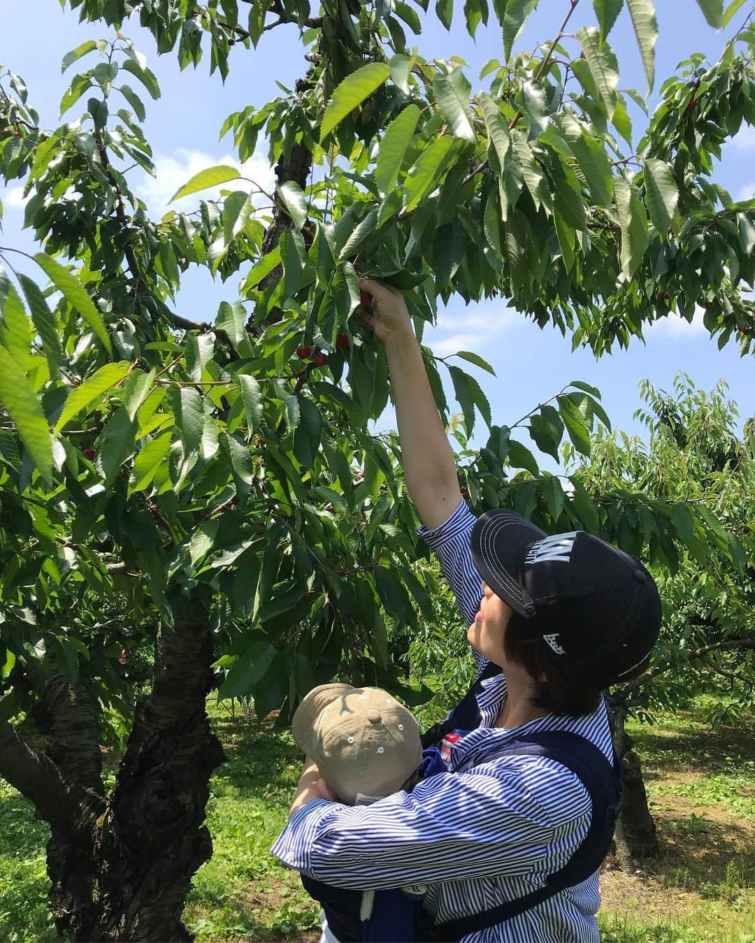
[[(411, 712), (379, 687), (315, 687), (297, 708), (292, 733), (347, 805), (377, 802), (446, 769), (435, 748), (423, 754)], [(304, 874), (302, 883), (325, 912), (320, 943), (408, 943), (415, 938), (421, 885), (361, 891), (324, 885)]]

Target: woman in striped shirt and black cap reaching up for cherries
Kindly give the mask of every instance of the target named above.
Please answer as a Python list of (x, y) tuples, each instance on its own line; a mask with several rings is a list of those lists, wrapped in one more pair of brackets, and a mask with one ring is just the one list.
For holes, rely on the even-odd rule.
[[(611, 760), (600, 691), (645, 670), (661, 604), (642, 564), (599, 538), (548, 537), (508, 511), (475, 520), (462, 501), (402, 295), (369, 279), (360, 287), (373, 299), (366, 320), (386, 345), (403, 469), (421, 533), (468, 623), (480, 669), (476, 720), (470, 729), (443, 731), (452, 775), (366, 807), (334, 802), (308, 761), (273, 853), (328, 885), (427, 884), (425, 910), (443, 922), (531, 894), (581, 845), (592, 809), (583, 781), (548, 757), (494, 754), (514, 739), (567, 731)], [(599, 902), (596, 871), (462, 938), (599, 940)]]

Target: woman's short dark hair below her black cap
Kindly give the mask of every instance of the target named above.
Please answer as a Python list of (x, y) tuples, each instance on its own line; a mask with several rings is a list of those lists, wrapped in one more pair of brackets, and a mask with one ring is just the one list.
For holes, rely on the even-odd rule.
[(506, 621), (503, 650), (508, 661), (531, 675), (534, 694), (530, 701), (533, 706), (572, 717), (592, 714), (598, 707), (600, 688), (590, 687), (583, 678), (577, 682), (568, 678), (556, 661), (555, 653), (533, 635), (529, 620), (516, 610), (511, 611)]

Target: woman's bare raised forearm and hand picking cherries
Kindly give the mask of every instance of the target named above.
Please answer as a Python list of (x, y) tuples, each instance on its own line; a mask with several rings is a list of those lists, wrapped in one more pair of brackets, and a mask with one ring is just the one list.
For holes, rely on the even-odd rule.
[(372, 296), (373, 313), (364, 320), (386, 345), (409, 496), (425, 526), (437, 527), (459, 506), (461, 491), (406, 302), (382, 282), (360, 278), (359, 286)]

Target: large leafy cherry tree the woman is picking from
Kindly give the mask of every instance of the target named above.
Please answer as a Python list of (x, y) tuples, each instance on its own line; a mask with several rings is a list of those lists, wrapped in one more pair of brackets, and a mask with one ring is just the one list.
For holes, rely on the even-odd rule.
[[(598, 6), (599, 29), (566, 34), (571, 0), (551, 41), (515, 56), (534, 3), (494, 4), (504, 61), (488, 63), (489, 91), (473, 98), (459, 66), (407, 49), (403, 25), (421, 28), (421, 3), (326, 0), (316, 15), (281, 0), (71, 6), (119, 29), (64, 59), (90, 66), (61, 102), (81, 111), (86, 96), (79, 118), (45, 130), (23, 80), (0, 77), (0, 166), (25, 181), (25, 223), (43, 250), (0, 249), (11, 273), (0, 280), (0, 773), (51, 824), (60, 931), (185, 939), (186, 891), (211, 854), (207, 784), (222, 762), (210, 688), (252, 695), (259, 716), (280, 709), (281, 722), (336, 672), (409, 703), (427, 693), (388, 653), (387, 623), (430, 617), (435, 580), (412, 569), (418, 521), (396, 438), (369, 430), (387, 403), (386, 362), (353, 320), (356, 271), (406, 292), (420, 337), (438, 298), (501, 293), (596, 353), (669, 310), (691, 319), (699, 301), (720, 342), (737, 333), (747, 347), (752, 203), (708, 178), (721, 143), (752, 120), (753, 33), (714, 66), (693, 59), (669, 78), (635, 147), (607, 41), (620, 2)], [(740, 4), (700, 6), (722, 25)], [(652, 4), (627, 8), (651, 86)], [(452, 12), (435, 7), (446, 25)], [(159, 89), (120, 32), (135, 15), (161, 53), (184, 66), (208, 51), (221, 74), (232, 43), (301, 27), (308, 68), (295, 90), (222, 128), (241, 160), (268, 142), (271, 215), (226, 187), (236, 168), (217, 167), (176, 196), (220, 184), (220, 200), (149, 219), (129, 179), (152, 167), (141, 99)], [(469, 2), (465, 16), (473, 34), (488, 7)], [(193, 265), (223, 284), (240, 277), (213, 324), (172, 310)], [(623, 488), (596, 501), (578, 477), (566, 494), (512, 438), (526, 424), (541, 451), (557, 456), (566, 435), (589, 454), (591, 429), (609, 425), (597, 390), (572, 384), (508, 428), (492, 423), (472, 376), (426, 358), (444, 416), (436, 364), (468, 433), (477, 416), (490, 427), (460, 470), (476, 510), (514, 506), (639, 551), (648, 539), (651, 563), (687, 539), (673, 502)], [(741, 563), (714, 512), (687, 506), (706, 553)], [(656, 513), (655, 538), (642, 508)], [(135, 699), (119, 653), (144, 644), (152, 686)], [(32, 708), (50, 731), (44, 752), (10, 722)], [(106, 728), (125, 741), (107, 795)]]

